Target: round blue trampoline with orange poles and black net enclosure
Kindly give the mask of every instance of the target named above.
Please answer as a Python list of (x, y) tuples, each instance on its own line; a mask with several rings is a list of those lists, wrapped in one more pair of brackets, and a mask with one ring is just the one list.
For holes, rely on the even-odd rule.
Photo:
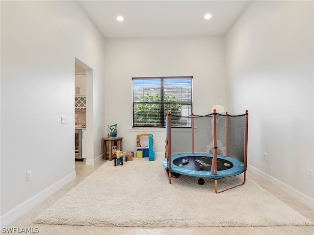
[[(170, 184), (172, 173), (214, 179), (216, 193), (245, 184), (248, 111), (238, 116), (228, 115), (227, 112), (221, 115), (213, 111), (206, 116), (195, 116), (193, 113), (187, 117), (176, 116), (176, 120), (190, 121), (191, 128), (185, 129), (173, 127), (171, 112), (167, 112), (166, 153), (162, 165)], [(218, 191), (217, 180), (242, 173), (243, 183)]]

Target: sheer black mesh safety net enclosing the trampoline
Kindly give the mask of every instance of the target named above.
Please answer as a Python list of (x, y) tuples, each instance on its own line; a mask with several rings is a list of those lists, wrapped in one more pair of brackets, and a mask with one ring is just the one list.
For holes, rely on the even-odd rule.
[[(218, 155), (233, 157), (244, 162), (245, 115), (215, 115)], [(213, 153), (213, 114), (188, 117), (172, 116), (172, 118), (174, 117), (184, 118), (189, 123), (193, 118), (194, 153)], [(172, 155), (192, 153), (192, 128), (171, 127), (171, 147)]]

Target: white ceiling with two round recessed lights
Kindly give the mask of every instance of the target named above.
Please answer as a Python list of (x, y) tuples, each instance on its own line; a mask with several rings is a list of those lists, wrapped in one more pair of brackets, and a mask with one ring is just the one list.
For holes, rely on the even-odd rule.
[[(224, 35), (249, 0), (85, 0), (105, 38)], [(208, 20), (205, 14), (211, 14)], [(118, 22), (117, 16), (124, 21)]]

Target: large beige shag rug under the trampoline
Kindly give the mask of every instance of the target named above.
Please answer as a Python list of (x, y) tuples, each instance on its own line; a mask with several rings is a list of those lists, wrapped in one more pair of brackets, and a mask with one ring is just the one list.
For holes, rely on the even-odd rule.
[[(168, 182), (162, 158), (113, 166), (107, 161), (33, 222), (129, 227), (305, 226), (313, 223), (247, 179), (214, 192), (213, 180), (180, 176)], [(218, 180), (229, 188), (243, 174)]]

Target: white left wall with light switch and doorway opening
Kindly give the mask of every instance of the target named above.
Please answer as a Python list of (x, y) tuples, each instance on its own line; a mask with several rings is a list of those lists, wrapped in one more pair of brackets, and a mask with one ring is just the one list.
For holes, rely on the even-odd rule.
[(75, 176), (75, 58), (93, 73), (89, 158), (102, 154), (103, 49), (76, 1), (1, 1), (1, 215)]

